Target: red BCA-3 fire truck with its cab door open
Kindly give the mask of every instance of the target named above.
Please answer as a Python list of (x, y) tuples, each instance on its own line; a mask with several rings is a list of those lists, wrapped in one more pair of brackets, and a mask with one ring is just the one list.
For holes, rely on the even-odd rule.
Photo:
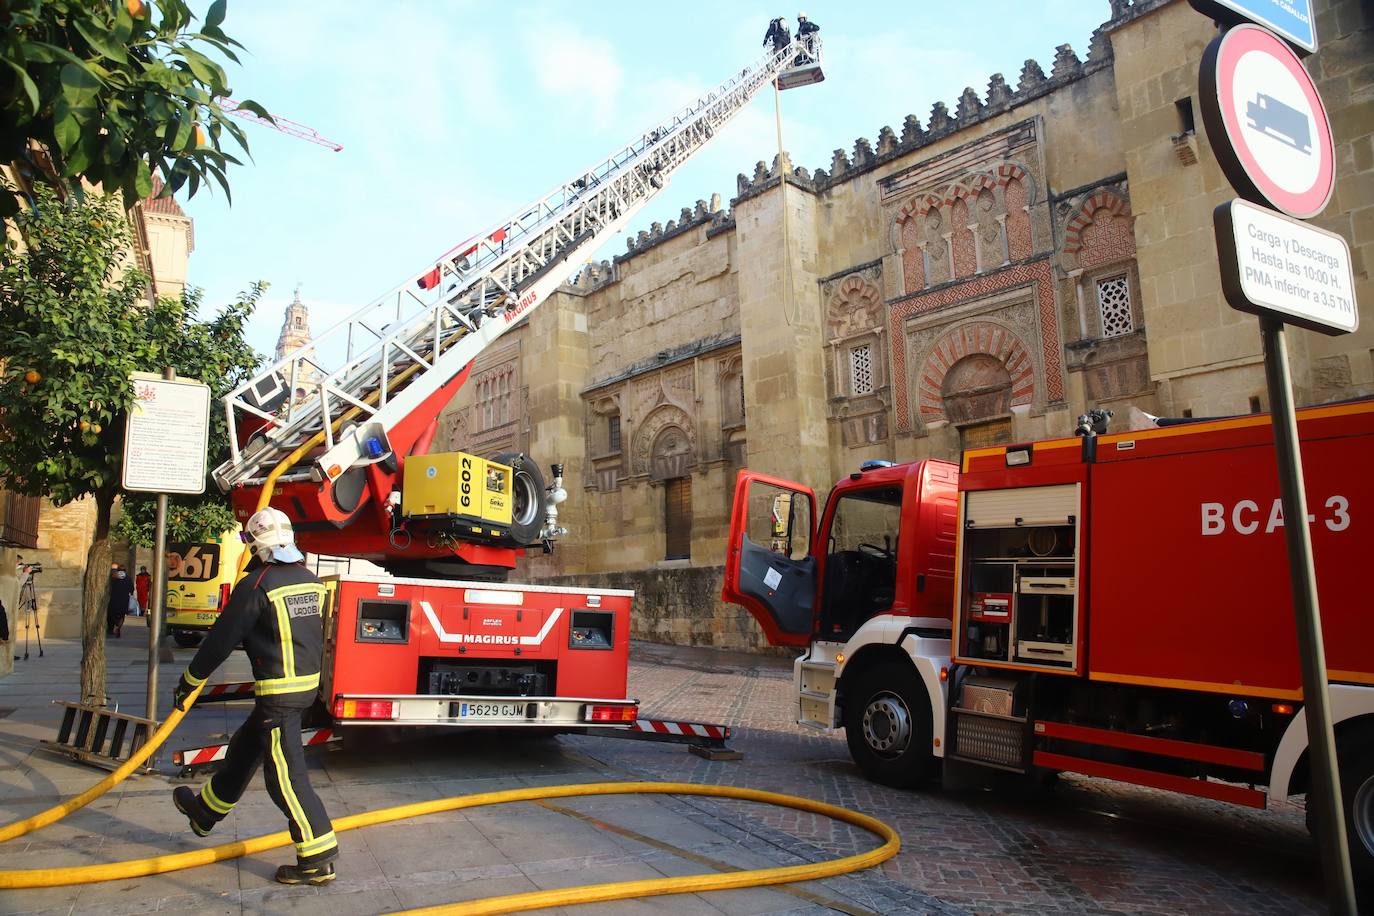
[[(1374, 401), (1298, 413), (1351, 853), (1374, 879)], [(867, 463), (816, 518), (742, 471), (724, 599), (798, 721), (905, 786), (1074, 772), (1264, 808), (1308, 790), (1268, 416)], [(1257, 787), (1265, 787), (1263, 791)]]

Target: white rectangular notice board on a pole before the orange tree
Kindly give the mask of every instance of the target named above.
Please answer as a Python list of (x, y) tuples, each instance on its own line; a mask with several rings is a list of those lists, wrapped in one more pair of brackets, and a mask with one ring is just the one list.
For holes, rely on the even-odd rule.
[(143, 493), (205, 493), (210, 387), (133, 372), (121, 485)]

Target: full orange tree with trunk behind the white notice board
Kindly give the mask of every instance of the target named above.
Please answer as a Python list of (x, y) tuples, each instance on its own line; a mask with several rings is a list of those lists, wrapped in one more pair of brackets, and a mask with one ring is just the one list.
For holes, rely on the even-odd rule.
[[(95, 501), (82, 582), (81, 698), (104, 700), (104, 604), (110, 519), (120, 490), (129, 374), (165, 367), (224, 391), (257, 356), (243, 341), (261, 284), (212, 320), (199, 294), (148, 302), (148, 280), (128, 266), (129, 236), (114, 198), (59, 202), (44, 185), (15, 217), (19, 239), (0, 247), (0, 486), (56, 504)], [(212, 448), (227, 452), (212, 411)], [(212, 456), (214, 457), (214, 456)], [(188, 525), (218, 534), (232, 523), (217, 490), (177, 505)], [(183, 520), (179, 518), (179, 523)]]

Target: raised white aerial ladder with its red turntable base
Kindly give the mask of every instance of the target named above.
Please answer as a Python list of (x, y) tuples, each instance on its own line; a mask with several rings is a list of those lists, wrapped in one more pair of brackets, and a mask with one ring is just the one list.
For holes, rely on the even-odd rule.
[[(513, 545), (401, 530), (405, 459), (429, 452), (440, 411), (482, 350), (622, 231), (760, 89), (823, 80), (820, 51), (812, 37), (768, 54), (229, 393), (231, 457), (214, 479), (235, 511), (246, 516), (271, 488), (304, 549), (393, 574), (513, 567)], [(539, 486), (515, 488), (528, 531), (517, 547), (548, 544), (562, 533), (556, 509), (537, 468), (523, 479)]]

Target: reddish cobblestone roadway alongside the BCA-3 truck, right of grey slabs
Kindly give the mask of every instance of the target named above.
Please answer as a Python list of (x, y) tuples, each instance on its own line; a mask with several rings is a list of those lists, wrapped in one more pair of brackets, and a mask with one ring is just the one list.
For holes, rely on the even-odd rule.
[[(789, 661), (639, 644), (633, 656), (631, 695), (649, 714), (732, 724), (731, 746), (745, 758), (565, 742), (647, 779), (753, 786), (877, 816), (903, 840), (885, 876), (944, 902), (1015, 915), (1323, 912), (1315, 846), (1296, 806), (1259, 812), (1069, 775), (1039, 791), (893, 790), (859, 773), (842, 732), (819, 736), (793, 722)], [(749, 816), (838, 851), (868, 842), (800, 812)]]

